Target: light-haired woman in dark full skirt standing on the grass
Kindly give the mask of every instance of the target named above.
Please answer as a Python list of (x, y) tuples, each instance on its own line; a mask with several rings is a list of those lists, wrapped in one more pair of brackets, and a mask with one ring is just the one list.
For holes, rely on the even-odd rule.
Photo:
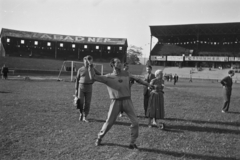
[[(149, 102), (148, 102), (148, 110), (147, 116), (149, 118), (148, 127), (152, 127), (157, 125), (157, 119), (164, 118), (164, 97), (163, 97), (163, 88), (164, 88), (164, 80), (163, 80), (163, 72), (162, 70), (156, 70), (155, 79), (152, 79), (150, 84), (154, 86), (154, 89), (150, 92)], [(153, 123), (151, 125), (151, 121)], [(160, 129), (164, 129), (164, 124), (160, 124)]]

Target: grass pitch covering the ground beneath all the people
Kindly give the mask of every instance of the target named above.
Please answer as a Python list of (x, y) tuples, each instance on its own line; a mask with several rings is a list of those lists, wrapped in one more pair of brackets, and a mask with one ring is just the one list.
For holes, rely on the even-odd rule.
[(0, 159), (168, 160), (240, 159), (240, 84), (233, 85), (229, 113), (221, 113), (219, 83), (166, 82), (166, 130), (148, 128), (142, 86), (132, 100), (139, 119), (139, 150), (128, 149), (130, 121), (124, 116), (95, 147), (108, 112), (106, 86), (94, 84), (90, 123), (78, 121), (74, 83), (0, 80)]

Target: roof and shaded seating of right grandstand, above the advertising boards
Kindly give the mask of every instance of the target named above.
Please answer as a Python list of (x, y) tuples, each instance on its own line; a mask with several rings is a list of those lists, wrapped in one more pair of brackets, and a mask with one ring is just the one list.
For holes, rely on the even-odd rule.
[(239, 55), (240, 23), (150, 26), (158, 43), (151, 55)]

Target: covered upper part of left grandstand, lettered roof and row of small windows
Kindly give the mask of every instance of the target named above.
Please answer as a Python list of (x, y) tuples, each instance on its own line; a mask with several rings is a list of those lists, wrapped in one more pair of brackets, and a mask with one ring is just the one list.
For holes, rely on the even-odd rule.
[(92, 55), (95, 62), (109, 62), (113, 57), (126, 61), (127, 39), (83, 37), (1, 30), (1, 55), (3, 57), (80, 60)]

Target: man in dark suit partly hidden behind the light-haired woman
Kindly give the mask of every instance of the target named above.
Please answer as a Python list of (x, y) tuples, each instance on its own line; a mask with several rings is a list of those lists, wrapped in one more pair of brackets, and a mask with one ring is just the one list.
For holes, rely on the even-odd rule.
[[(150, 83), (152, 79), (155, 78), (155, 75), (152, 73), (152, 66), (146, 66), (146, 71), (147, 73), (144, 75), (144, 81), (147, 83)], [(145, 117), (147, 117), (147, 108), (148, 108), (148, 100), (150, 96), (150, 90), (147, 86), (143, 87), (143, 106), (144, 106), (144, 112), (145, 112)]]

